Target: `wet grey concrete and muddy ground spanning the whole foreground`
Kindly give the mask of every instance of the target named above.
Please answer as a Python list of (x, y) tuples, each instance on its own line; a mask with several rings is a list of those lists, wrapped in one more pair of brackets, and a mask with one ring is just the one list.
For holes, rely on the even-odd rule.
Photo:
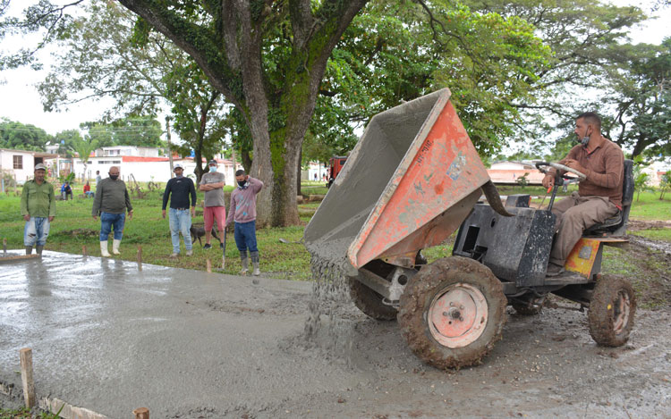
[[(583, 313), (510, 314), (483, 365), (443, 372), (412, 355), (396, 323), (343, 300), (335, 269), (316, 268), (325, 280), (313, 294), (306, 282), (253, 284), (149, 264), (139, 272), (131, 262), (55, 252), (1, 264), (0, 405), (21, 404), (16, 371), (28, 347), (38, 398), (112, 418), (140, 406), (181, 419), (671, 412), (668, 309), (638, 311), (624, 348), (597, 347)], [(310, 329), (315, 296), (321, 327)], [(349, 340), (328, 347), (339, 322)]]

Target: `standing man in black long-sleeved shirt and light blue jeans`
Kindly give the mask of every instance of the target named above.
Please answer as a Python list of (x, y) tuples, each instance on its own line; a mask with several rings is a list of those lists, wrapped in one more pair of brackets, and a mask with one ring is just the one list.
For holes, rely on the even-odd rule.
[[(191, 250), (191, 217), (196, 214), (196, 187), (193, 180), (183, 176), (182, 164), (174, 165), (174, 178), (168, 180), (166, 191), (163, 193), (163, 218), (166, 218), (166, 205), (170, 197), (170, 236), (173, 239), (173, 254), (180, 255), (180, 232), (184, 238), (186, 256), (193, 255)], [(191, 196), (191, 211), (189, 211), (189, 197)]]

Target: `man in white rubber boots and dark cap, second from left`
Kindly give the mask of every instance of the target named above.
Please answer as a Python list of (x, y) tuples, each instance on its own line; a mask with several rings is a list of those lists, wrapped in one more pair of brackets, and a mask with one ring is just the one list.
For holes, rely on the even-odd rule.
[(96, 197), (93, 200), (91, 215), (98, 220), (100, 215), (100, 255), (109, 257), (107, 252), (107, 237), (110, 231), (115, 231), (115, 241), (112, 245), (112, 253), (119, 255), (119, 246), (123, 238), (123, 225), (126, 221), (126, 209), (128, 219), (132, 220), (131, 197), (128, 195), (126, 184), (119, 179), (119, 168), (109, 168), (109, 178), (100, 180), (96, 188)]

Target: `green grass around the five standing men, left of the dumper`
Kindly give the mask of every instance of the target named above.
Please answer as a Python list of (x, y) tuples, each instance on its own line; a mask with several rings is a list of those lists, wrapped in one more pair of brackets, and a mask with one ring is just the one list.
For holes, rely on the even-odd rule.
[[(233, 187), (229, 187), (232, 190)], [(79, 194), (74, 193), (75, 197)], [(202, 193), (198, 193), (199, 203)], [(131, 198), (133, 219), (126, 219), (121, 245), (121, 258), (137, 260), (138, 246), (142, 247), (142, 261), (146, 264), (160, 264), (180, 268), (205, 270), (206, 259), (210, 259), (212, 267), (221, 268), (221, 250), (216, 246), (217, 239), (212, 242), (213, 248), (203, 250), (196, 241), (191, 257), (182, 256), (177, 260), (170, 259), (172, 244), (168, 220), (161, 217), (162, 191), (153, 191), (145, 199)], [(8, 248), (23, 247), (23, 226), (25, 222), (20, 214), (20, 197), (0, 196), (0, 239), (7, 239)], [(100, 221), (91, 217), (92, 199), (75, 198), (69, 201), (56, 201), (56, 218), (51, 225), (47, 250), (56, 250), (72, 254), (81, 254), (86, 246), (91, 256), (100, 256), (98, 234)], [(301, 205), (302, 222), (310, 220), (317, 208), (317, 203)], [(202, 224), (202, 214), (193, 219), (194, 224)], [(294, 280), (310, 280), (310, 256), (299, 242), (302, 239), (303, 226), (282, 229), (261, 229), (257, 232), (261, 256), (261, 270), (268, 276)], [(290, 243), (282, 243), (285, 239)], [(112, 243), (110, 238), (109, 248)], [(183, 242), (182, 250), (184, 254)], [(216, 272), (236, 273), (241, 268), (240, 256), (235, 247), (233, 234), (226, 239), (226, 266), (214, 269)]]

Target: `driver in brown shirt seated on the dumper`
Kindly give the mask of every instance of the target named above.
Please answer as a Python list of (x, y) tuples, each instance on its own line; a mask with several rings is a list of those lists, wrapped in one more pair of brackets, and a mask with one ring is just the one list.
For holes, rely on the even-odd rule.
[[(575, 120), (576, 140), (580, 143), (559, 161), (581, 172), (587, 179), (578, 185), (578, 191), (558, 201), (552, 207), (556, 215), (555, 244), (550, 252), (548, 276), (564, 272), (566, 257), (582, 231), (606, 221), (622, 210), (624, 181), (624, 154), (616, 143), (601, 135), (601, 119), (596, 113), (582, 113)], [(556, 170), (543, 179), (543, 187), (555, 185)]]

